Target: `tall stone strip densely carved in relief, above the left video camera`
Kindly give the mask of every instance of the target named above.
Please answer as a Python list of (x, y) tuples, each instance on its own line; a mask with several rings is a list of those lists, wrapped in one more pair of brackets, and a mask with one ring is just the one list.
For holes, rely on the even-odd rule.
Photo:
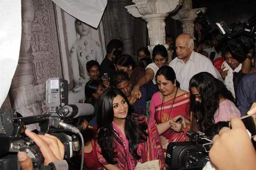
[(31, 25), (36, 84), (50, 77), (62, 77), (59, 44), (51, 1), (35, 1), (35, 18)]

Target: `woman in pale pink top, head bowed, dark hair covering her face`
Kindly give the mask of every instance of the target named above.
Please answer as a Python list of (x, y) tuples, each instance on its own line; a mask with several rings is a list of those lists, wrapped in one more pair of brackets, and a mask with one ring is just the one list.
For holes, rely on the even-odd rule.
[(190, 110), (195, 113), (201, 131), (219, 121), (230, 121), (240, 116), (234, 97), (222, 81), (212, 74), (201, 72), (189, 81)]

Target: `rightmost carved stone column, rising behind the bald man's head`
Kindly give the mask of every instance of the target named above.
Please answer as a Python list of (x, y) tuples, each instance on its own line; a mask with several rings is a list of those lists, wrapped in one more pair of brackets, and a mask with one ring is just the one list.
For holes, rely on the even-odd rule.
[(192, 0), (187, 0), (183, 3), (181, 10), (177, 15), (172, 16), (174, 20), (180, 20), (182, 23), (183, 33), (189, 33), (194, 37), (194, 21), (197, 17), (196, 11), (205, 12), (206, 8), (192, 8)]

